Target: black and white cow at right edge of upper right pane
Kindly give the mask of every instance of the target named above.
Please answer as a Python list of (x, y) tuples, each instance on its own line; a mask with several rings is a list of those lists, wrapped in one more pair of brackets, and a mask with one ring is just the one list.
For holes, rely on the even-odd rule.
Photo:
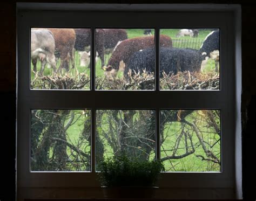
[(212, 58), (215, 61), (215, 72), (218, 72), (219, 66), (219, 50), (220, 50), (220, 32), (219, 30), (209, 33), (203, 44), (200, 47), (199, 52), (208, 58)]

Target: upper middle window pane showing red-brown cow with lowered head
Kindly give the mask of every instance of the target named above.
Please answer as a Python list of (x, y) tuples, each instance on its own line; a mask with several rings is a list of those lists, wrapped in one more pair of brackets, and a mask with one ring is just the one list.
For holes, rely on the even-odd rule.
[(96, 89), (154, 89), (154, 29), (96, 29), (96, 51)]

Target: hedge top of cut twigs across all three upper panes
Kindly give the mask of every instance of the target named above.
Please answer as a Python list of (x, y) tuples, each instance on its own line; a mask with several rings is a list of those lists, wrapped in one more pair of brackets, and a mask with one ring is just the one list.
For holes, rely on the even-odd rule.
[[(126, 77), (97, 77), (96, 89), (98, 90), (154, 90), (154, 73), (129, 72)], [(166, 74), (160, 78), (161, 90), (218, 90), (220, 80), (219, 74), (202, 74), (178, 72), (177, 74)], [(86, 73), (66, 73), (59, 75), (40, 76), (35, 74), (31, 80), (32, 89), (90, 89), (90, 76)]]

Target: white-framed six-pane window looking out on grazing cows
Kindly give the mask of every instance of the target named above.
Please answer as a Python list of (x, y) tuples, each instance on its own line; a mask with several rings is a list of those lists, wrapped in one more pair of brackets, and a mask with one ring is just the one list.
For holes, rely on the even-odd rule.
[[(87, 198), (97, 197), (97, 161), (103, 156), (116, 153), (118, 148), (115, 145), (118, 144), (118, 139), (108, 141), (107, 135), (120, 131), (120, 125), (118, 127), (117, 123), (122, 124), (122, 131), (126, 132), (126, 138), (122, 142), (125, 149), (132, 150), (131, 153), (139, 153), (139, 156), (147, 160), (156, 157), (165, 161), (169, 172), (163, 173), (164, 177), (159, 181), (159, 198), (198, 199), (199, 197), (193, 194), (194, 188), (198, 189), (201, 198), (234, 198), (234, 115), (237, 111), (234, 99), (237, 90), (235, 83), (239, 84), (234, 79), (237, 65), (234, 58), (239, 58), (239, 55), (235, 57), (233, 12), (225, 9), (220, 12), (223, 8), (221, 6), (208, 12), (205, 12), (207, 9), (203, 6), (194, 12), (185, 7), (182, 9), (180, 5), (179, 12), (173, 12), (175, 6), (171, 8), (169, 5), (170, 9), (166, 9), (162, 5), (158, 8), (151, 7), (152, 5), (136, 5), (138, 10), (130, 12), (135, 9), (135, 5), (134, 8), (121, 6), (119, 9), (105, 5), (105, 8), (96, 9), (93, 5), (90, 8), (85, 5), (79, 8), (79, 5), (75, 4), (75, 7), (78, 6), (77, 10), (59, 9), (58, 5), (56, 10), (52, 10), (47, 7), (50, 4), (42, 5), (42, 9), (31, 9), (26, 4), (19, 4), (17, 15), (18, 198), (36, 198), (38, 196), (34, 195), (37, 192), (41, 192), (41, 198), (63, 198), (60, 191), (67, 187), (83, 187), (91, 193), (87, 194)], [(65, 8), (65, 4), (61, 6)], [(29, 12), (26, 11), (28, 8)], [(159, 10), (161, 12), (158, 12)], [(90, 49), (87, 49), (86, 53), (78, 53), (81, 43), (76, 44), (75, 39), (72, 43), (77, 45), (77, 51), (69, 52), (66, 42), (63, 46), (64, 49), (67, 48), (64, 54), (59, 41), (56, 40), (56, 29), (62, 29), (59, 36), (71, 37), (68, 41), (71, 41), (72, 36), (77, 39), (79, 33), (87, 32), (87, 36), (90, 36), (87, 40)], [(139, 34), (139, 37), (143, 38), (143, 30), (150, 30), (152, 36), (147, 37), (152, 38), (153, 42), (147, 50), (151, 52), (145, 53), (144, 50), (140, 51), (142, 47), (138, 47), (134, 62), (137, 58), (143, 61), (151, 60), (149, 65), (153, 66), (152, 71), (137, 72), (136, 79), (125, 79), (125, 73), (129, 76), (126, 67), (130, 64), (125, 63), (124, 57), (122, 62), (118, 61), (119, 71), (123, 65), (124, 72), (114, 72), (116, 77), (103, 77), (102, 75), (110, 71), (113, 74), (114, 67), (110, 64), (103, 65), (106, 64), (104, 60), (109, 63), (110, 54), (102, 53), (99, 47), (104, 45), (100, 40), (102, 29), (125, 30), (128, 39), (137, 38)], [(164, 58), (164, 52), (161, 52), (161, 34), (168, 35), (181, 29), (197, 29), (199, 36), (203, 33), (201, 29), (220, 32), (221, 59), (220, 70), (217, 70), (220, 73), (213, 73), (212, 77), (207, 78), (214, 82), (211, 82), (208, 88), (191, 88), (192, 85), (188, 87), (187, 82), (192, 82), (195, 74), (187, 71), (179, 74), (184, 80), (179, 88), (172, 88), (173, 83), (170, 81), (174, 78), (170, 76), (173, 76), (173, 73), (163, 73), (161, 77), (161, 58)], [(33, 34), (38, 32), (50, 33), (53, 36), (48, 39), (54, 39), (54, 46), (50, 41), (49, 47), (42, 50), (50, 52), (50, 48), (53, 48), (54, 52), (48, 54), (43, 52), (41, 47), (32, 47), (33, 39), (36, 38), (32, 39)], [(210, 32), (206, 31), (205, 36)], [(174, 44), (174, 38), (171, 45)], [(178, 39), (176, 44), (177, 41)], [(179, 43), (184, 41), (179, 40)], [(190, 45), (191, 43), (193, 44), (190, 42)], [(164, 44), (170, 45), (168, 40)], [(57, 47), (59, 51), (56, 51)], [(120, 47), (122, 46), (116, 48)], [(188, 51), (191, 50), (189, 48), (199, 48), (186, 47)], [(86, 50), (88, 47), (82, 48)], [(177, 58), (179, 51), (176, 52)], [(36, 54), (35, 61), (32, 53)], [(73, 54), (75, 57), (72, 57)], [(152, 57), (145, 59), (149, 55)], [(203, 54), (197, 55), (199, 57)], [(78, 59), (82, 57), (87, 58), (84, 63)], [(127, 57), (133, 56), (129, 54)], [(73, 58), (75, 59), (72, 60)], [(46, 68), (46, 61), (51, 69)], [(214, 59), (211, 64), (215, 65)], [(72, 65), (75, 65), (75, 69), (69, 69)], [(61, 70), (59, 66), (62, 66)], [(214, 70), (213, 68), (213, 72)], [(41, 75), (45, 75), (43, 79)], [(106, 82), (106, 79), (112, 81), (111, 84)], [(147, 82), (144, 82), (145, 79)], [(126, 82), (130, 82), (130, 85)], [(124, 83), (126, 88), (123, 87)], [(147, 130), (148, 136), (145, 136), (143, 130)], [(42, 142), (43, 146), (40, 147)], [(167, 192), (173, 188), (178, 189), (177, 194), (169, 195)], [(212, 192), (213, 189), (219, 191), (210, 195), (208, 191)], [(69, 197), (86, 198), (79, 190), (76, 193), (71, 189), (67, 191), (70, 193)]]

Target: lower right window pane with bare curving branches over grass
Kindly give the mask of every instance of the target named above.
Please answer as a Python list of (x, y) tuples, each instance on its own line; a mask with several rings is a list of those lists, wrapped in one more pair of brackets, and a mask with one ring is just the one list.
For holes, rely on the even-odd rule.
[(161, 110), (161, 161), (170, 172), (220, 172), (220, 110)]

